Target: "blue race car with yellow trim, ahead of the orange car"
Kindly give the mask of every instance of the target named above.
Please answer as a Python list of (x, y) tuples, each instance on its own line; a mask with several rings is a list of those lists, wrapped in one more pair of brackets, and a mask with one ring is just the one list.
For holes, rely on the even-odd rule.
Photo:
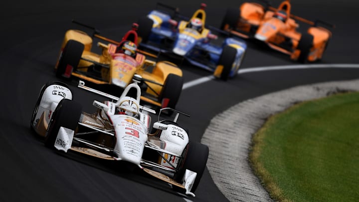
[(247, 45), (234, 38), (226, 38), (222, 45), (211, 43), (210, 40), (218, 37), (210, 29), (219, 30), (204, 25), (204, 3), (189, 20), (179, 15), (177, 8), (162, 3), (157, 5), (173, 10), (174, 14), (155, 9), (141, 18), (138, 22), (139, 36), (142, 36), (140, 46), (181, 56), (192, 65), (214, 72), (214, 76), (222, 80), (237, 74)]

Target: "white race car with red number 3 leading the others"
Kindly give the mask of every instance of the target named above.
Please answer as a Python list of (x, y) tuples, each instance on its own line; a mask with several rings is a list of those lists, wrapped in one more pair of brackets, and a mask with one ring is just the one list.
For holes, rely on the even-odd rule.
[[(177, 123), (179, 114), (186, 114), (171, 108), (161, 109), (153, 132), (149, 133), (151, 116), (144, 111), (156, 112), (139, 105), (141, 78), (136, 78), (120, 98), (89, 88), (80, 81), (79, 88), (111, 100), (94, 100), (97, 111), (93, 114), (82, 112), (81, 104), (72, 100), (66, 84), (48, 83), (40, 91), (30, 126), (44, 137), (49, 148), (131, 162), (172, 184), (174, 190), (194, 197), (207, 162), (208, 147), (189, 141), (186, 130)], [(137, 91), (134, 97), (129, 96), (131, 88)], [(175, 118), (160, 120), (164, 110), (173, 111)]]

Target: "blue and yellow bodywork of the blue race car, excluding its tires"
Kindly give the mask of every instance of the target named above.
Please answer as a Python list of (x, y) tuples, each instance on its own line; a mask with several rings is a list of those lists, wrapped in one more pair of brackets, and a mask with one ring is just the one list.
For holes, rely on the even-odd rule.
[(201, 34), (189, 27), (185, 27), (179, 32), (179, 26), (183, 23), (187, 24), (187, 21), (181, 20), (175, 26), (173, 22), (176, 21), (171, 18), (171, 15), (159, 10), (151, 11), (147, 17), (153, 20), (153, 28), (148, 41), (141, 43), (141, 46), (166, 54), (182, 56), (192, 65), (213, 72), (219, 65), (219, 58), (224, 46), (230, 45), (236, 48), (237, 54), (228, 76), (235, 76), (247, 49), (244, 41), (226, 38), (221, 45), (215, 45), (210, 42), (212, 39), (207, 37), (208, 35), (214, 36), (208, 29), (205, 30), (206, 33), (208, 32), (205, 36), (203, 36), (203, 31)]

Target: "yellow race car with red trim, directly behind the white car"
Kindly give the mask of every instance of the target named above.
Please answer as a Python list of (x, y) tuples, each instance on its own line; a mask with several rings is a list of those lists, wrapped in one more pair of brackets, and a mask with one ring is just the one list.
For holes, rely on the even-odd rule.
[[(92, 37), (81, 30), (68, 30), (55, 65), (56, 76), (66, 79), (76, 77), (108, 89), (117, 86), (122, 89), (119, 91), (121, 93), (132, 83), (133, 76), (138, 74), (143, 80), (141, 88), (144, 93), (141, 100), (158, 108), (175, 108), (183, 85), (182, 71), (169, 61), (146, 59), (145, 54), (152, 57), (156, 55), (137, 49), (137, 29), (138, 24), (134, 23), (121, 42), (99, 35), (95, 28)], [(91, 51), (93, 37), (109, 42), (97, 43), (102, 48), (101, 54)]]

